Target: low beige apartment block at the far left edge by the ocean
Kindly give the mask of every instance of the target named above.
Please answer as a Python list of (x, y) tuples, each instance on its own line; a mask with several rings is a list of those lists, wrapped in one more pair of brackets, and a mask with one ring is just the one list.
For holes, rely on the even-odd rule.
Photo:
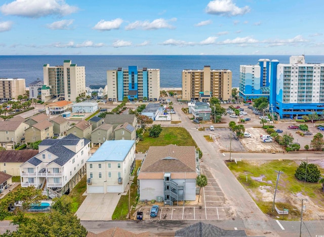
[(24, 78), (0, 78), (0, 99), (17, 99), (19, 95), (26, 93), (26, 84)]

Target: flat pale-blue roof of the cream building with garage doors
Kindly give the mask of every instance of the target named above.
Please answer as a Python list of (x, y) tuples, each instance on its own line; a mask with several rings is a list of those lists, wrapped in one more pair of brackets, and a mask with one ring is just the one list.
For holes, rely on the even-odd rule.
[(105, 141), (87, 162), (122, 162), (125, 160), (134, 143), (135, 141), (133, 140)]

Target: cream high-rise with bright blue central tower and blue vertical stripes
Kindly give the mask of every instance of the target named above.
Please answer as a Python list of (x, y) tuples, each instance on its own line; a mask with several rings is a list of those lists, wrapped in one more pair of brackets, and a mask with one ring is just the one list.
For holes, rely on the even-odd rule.
[(160, 69), (148, 69), (129, 66), (107, 70), (108, 101), (129, 100), (157, 101), (160, 96)]

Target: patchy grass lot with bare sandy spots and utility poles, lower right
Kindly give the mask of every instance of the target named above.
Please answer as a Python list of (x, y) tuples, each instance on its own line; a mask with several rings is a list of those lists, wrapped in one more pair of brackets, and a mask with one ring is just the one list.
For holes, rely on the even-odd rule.
[[(242, 161), (238, 162), (237, 164), (235, 164), (234, 162), (227, 163), (227, 166), (236, 176), (237, 180), (242, 184), (242, 186), (244, 186), (247, 189), (247, 191), (250, 193), (256, 204), (265, 214), (268, 214), (270, 216), (278, 216), (276, 211), (272, 212), (272, 202), (262, 201), (262, 193), (259, 191), (260, 186), (270, 186), (272, 188), (268, 189), (268, 191), (270, 190), (271, 194), (274, 194), (277, 178), (277, 173), (275, 171), (284, 172), (280, 175), (280, 179), (278, 182), (278, 191), (287, 195), (288, 199), (290, 195), (301, 192), (304, 195), (308, 195), (312, 202), (317, 204), (318, 206), (324, 205), (324, 195), (321, 190), (321, 184), (306, 183), (306, 186), (304, 188), (304, 182), (299, 181), (295, 178), (295, 172), (296, 168), (298, 167), (298, 164), (294, 161), (270, 161), (264, 162), (263, 164), (253, 164), (247, 161)], [(318, 168), (321, 171), (321, 173), (324, 172), (324, 169), (321, 169), (320, 167)], [(263, 181), (272, 181), (272, 183), (259, 182), (251, 178), (260, 177), (261, 175), (265, 176), (263, 178)], [(292, 196), (292, 198), (294, 198), (294, 196)], [(283, 207), (289, 209), (289, 215), (285, 215), (284, 220), (300, 218), (300, 212), (293, 210), (294, 208), (300, 208), (296, 208), (289, 202), (275, 203), (275, 205), (280, 210), (282, 210)], [(282, 216), (280, 216), (280, 218), (282, 219)]]

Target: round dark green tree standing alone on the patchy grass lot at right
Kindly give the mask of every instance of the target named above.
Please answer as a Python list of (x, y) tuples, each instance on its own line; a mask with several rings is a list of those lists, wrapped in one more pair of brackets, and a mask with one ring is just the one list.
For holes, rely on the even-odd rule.
[[(306, 168), (307, 167), (307, 168)], [(295, 177), (298, 180), (305, 180), (305, 172), (306, 172), (306, 182), (309, 183), (317, 183), (320, 178), (320, 171), (318, 170), (315, 164), (307, 164), (306, 162), (302, 162), (299, 167), (296, 169)]]

